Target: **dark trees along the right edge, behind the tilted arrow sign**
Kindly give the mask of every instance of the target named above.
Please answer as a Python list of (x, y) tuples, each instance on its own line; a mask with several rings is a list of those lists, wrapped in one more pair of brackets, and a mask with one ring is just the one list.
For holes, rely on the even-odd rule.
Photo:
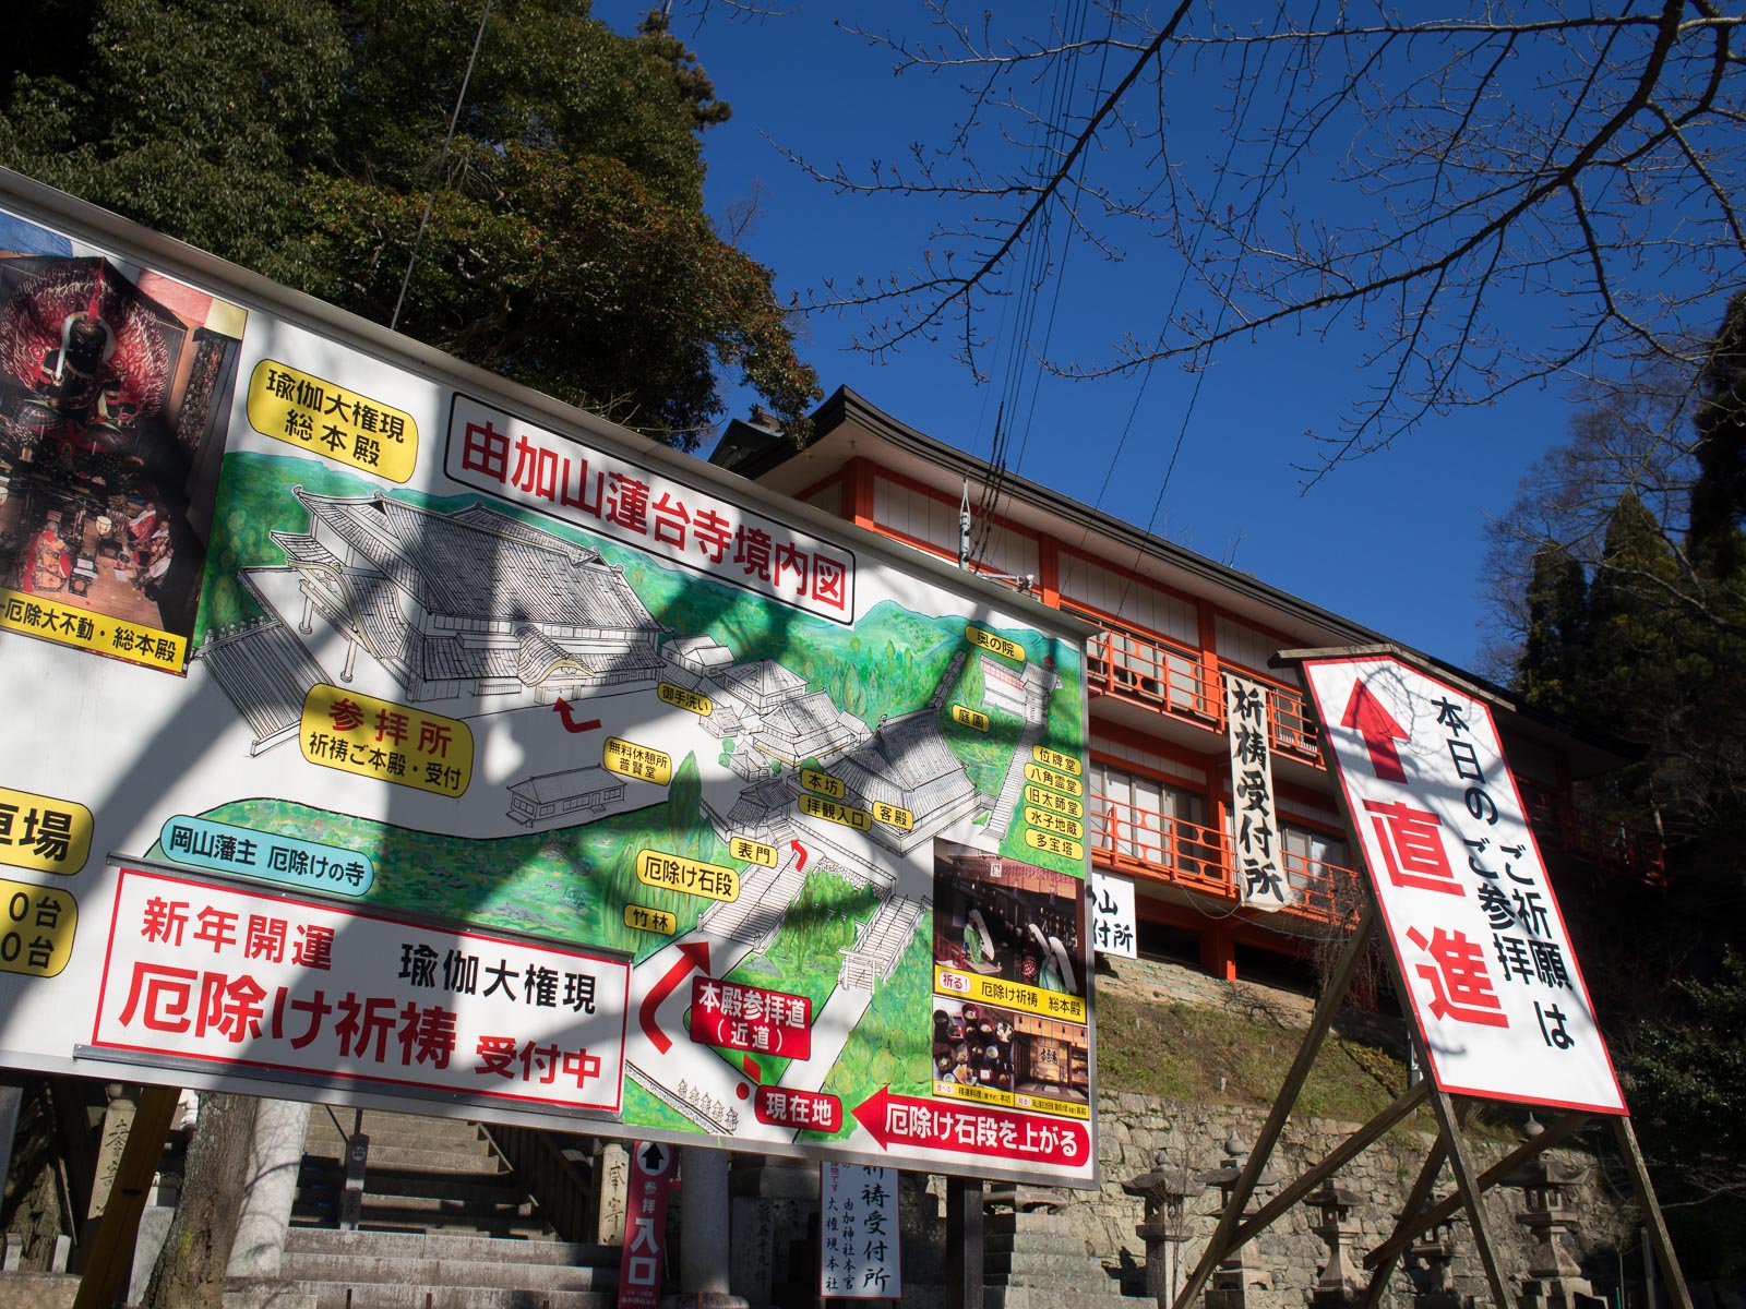
[(1746, 1220), (1743, 328), (1736, 298), (1695, 377), (1591, 407), (1510, 518), (1533, 552), (1517, 689), (1646, 747), (1582, 799), (1610, 831), (1666, 838), (1667, 888), (1564, 901), (1692, 1276), (1746, 1269), (1727, 1236)]

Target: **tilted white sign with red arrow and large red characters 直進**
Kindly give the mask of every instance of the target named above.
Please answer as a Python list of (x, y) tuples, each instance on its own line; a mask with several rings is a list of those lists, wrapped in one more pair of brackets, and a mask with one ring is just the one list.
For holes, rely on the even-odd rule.
[(1491, 710), (1388, 656), (1304, 677), (1437, 1086), (1624, 1114)]

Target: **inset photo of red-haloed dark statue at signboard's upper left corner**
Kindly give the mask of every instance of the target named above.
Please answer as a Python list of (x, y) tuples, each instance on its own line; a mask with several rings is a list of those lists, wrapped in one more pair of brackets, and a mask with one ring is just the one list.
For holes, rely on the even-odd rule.
[(0, 627), (185, 668), (243, 321), (0, 216)]

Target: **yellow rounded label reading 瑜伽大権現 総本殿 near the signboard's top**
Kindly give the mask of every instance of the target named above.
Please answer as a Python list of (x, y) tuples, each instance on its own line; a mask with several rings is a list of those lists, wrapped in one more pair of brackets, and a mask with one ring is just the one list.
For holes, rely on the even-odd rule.
[(389, 482), (412, 476), (419, 459), (410, 414), (278, 360), (262, 360), (248, 379), (248, 422), (262, 436)]

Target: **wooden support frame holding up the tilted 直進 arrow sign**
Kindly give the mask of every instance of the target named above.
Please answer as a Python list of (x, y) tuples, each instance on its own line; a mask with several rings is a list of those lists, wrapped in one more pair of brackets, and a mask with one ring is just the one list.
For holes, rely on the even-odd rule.
[[(1386, 646), (1357, 646), (1357, 648), (1332, 648), (1332, 649), (1287, 649), (1280, 651), (1273, 667), (1280, 668), (1301, 668), (1303, 663), (1310, 660), (1341, 660), (1341, 658), (1393, 658), (1400, 663), (1423, 672), (1437, 681), (1447, 681), (1447, 674), (1442, 670), (1432, 670), (1423, 656), (1413, 651), (1402, 649), (1393, 644)], [(1465, 691), (1479, 695), (1486, 700), (1484, 693), (1477, 688), (1465, 686)], [(1311, 714), (1315, 714), (1315, 698), (1308, 698)], [(1325, 724), (1316, 719), (1322, 738), (1322, 752), (1327, 761), (1330, 775), (1337, 777), (1337, 764), (1334, 759), (1332, 747), (1327, 738)], [(1341, 815), (1348, 826), (1348, 831), (1355, 831), (1353, 815), (1346, 805), (1344, 789), (1337, 789)], [(1362, 850), (1362, 843), (1358, 846)], [(1173, 1309), (1189, 1309), (1201, 1290), (1210, 1281), (1213, 1269), (1227, 1258), (1231, 1253), (1240, 1250), (1243, 1244), (1257, 1237), (1262, 1230), (1278, 1222), (1294, 1204), (1297, 1204), (1304, 1196), (1308, 1196), (1322, 1182), (1334, 1176), (1341, 1166), (1350, 1162), (1353, 1157), (1362, 1154), (1371, 1143), (1383, 1136), (1390, 1127), (1406, 1119), (1413, 1110), (1428, 1103), (1432, 1114), (1437, 1121), (1437, 1133), (1426, 1150), (1425, 1162), (1414, 1180), (1406, 1204), (1402, 1206), (1400, 1218), (1397, 1220), (1392, 1234), (1371, 1250), (1364, 1260), (1362, 1267), (1369, 1272), (1369, 1281), (1365, 1285), (1362, 1309), (1372, 1309), (1388, 1283), (1400, 1255), (1406, 1248), (1418, 1239), (1418, 1236), (1439, 1222), (1453, 1216), (1456, 1211), (1465, 1211), (1468, 1223), (1474, 1232), (1474, 1244), (1479, 1251), (1481, 1264), (1486, 1271), (1486, 1283), (1491, 1290), (1493, 1302), (1500, 1309), (1512, 1309), (1519, 1304), (1519, 1297), (1512, 1293), (1510, 1283), (1505, 1279), (1503, 1269), (1498, 1262), (1500, 1243), (1496, 1241), (1491, 1222), (1486, 1216), (1484, 1204), (1481, 1197), (1486, 1190), (1498, 1185), (1514, 1173), (1523, 1164), (1538, 1157), (1554, 1145), (1568, 1140), (1571, 1134), (1591, 1124), (1594, 1119), (1603, 1117), (1610, 1121), (1613, 1141), (1624, 1157), (1626, 1171), (1631, 1176), (1631, 1187), (1643, 1210), (1643, 1222), (1648, 1232), (1650, 1248), (1655, 1253), (1655, 1260), (1660, 1267), (1662, 1278), (1667, 1285), (1669, 1299), (1674, 1309), (1692, 1309), (1692, 1297), (1685, 1285), (1685, 1274), (1680, 1271), (1678, 1255), (1673, 1250), (1673, 1241), (1667, 1236), (1667, 1223), (1662, 1216), (1660, 1204), (1655, 1199), (1653, 1185), (1648, 1178), (1648, 1169), (1643, 1162), (1643, 1154), (1638, 1148), (1636, 1133), (1631, 1127), (1631, 1115), (1626, 1114), (1598, 1114), (1592, 1110), (1578, 1108), (1571, 1112), (1559, 1114), (1557, 1119), (1545, 1131), (1533, 1136), (1503, 1159), (1500, 1159), (1491, 1168), (1481, 1169), (1468, 1148), (1467, 1136), (1463, 1131), (1463, 1119), (1467, 1107), (1474, 1103), (1474, 1098), (1463, 1098), (1460, 1103), (1454, 1096), (1437, 1086), (1433, 1077), (1423, 1077), (1400, 1096), (1395, 1098), (1392, 1105), (1381, 1110), (1376, 1117), (1365, 1122), (1358, 1131), (1341, 1141), (1334, 1150), (1330, 1150), (1320, 1162), (1308, 1168), (1297, 1178), (1289, 1182), (1278, 1196), (1268, 1201), (1261, 1210), (1245, 1218), (1245, 1210), (1255, 1194), (1257, 1180), (1266, 1169), (1273, 1152), (1285, 1131), (1287, 1119), (1297, 1103), (1297, 1096), (1303, 1091), (1304, 1082), (1310, 1077), (1310, 1070), (1315, 1065), (1316, 1056), (1322, 1051), (1329, 1031), (1332, 1030), (1334, 1016), (1346, 1000), (1346, 993), (1351, 990), (1353, 979), (1358, 972), (1358, 965), (1364, 960), (1365, 951), (1372, 942), (1381, 941), (1383, 956), (1388, 962), (1395, 990), (1400, 997), (1407, 997), (1407, 979), (1404, 972), (1402, 960), (1383, 930), (1381, 909), (1378, 904), (1376, 890), (1371, 881), (1364, 885), (1364, 909), (1346, 941), (1346, 948), (1334, 967), (1334, 974), (1322, 991), (1322, 998), (1316, 1002), (1315, 1012), (1310, 1019), (1310, 1028), (1304, 1033), (1303, 1042), (1297, 1047), (1297, 1054), (1292, 1059), (1292, 1066), (1287, 1070), (1280, 1091), (1273, 1100), (1273, 1107), (1268, 1112), (1268, 1119), (1255, 1138), (1255, 1145), (1243, 1164), (1243, 1171), (1238, 1175), (1236, 1183), (1231, 1190), (1231, 1197), (1219, 1215), (1219, 1223), (1213, 1229), (1212, 1239), (1201, 1251), (1200, 1262), (1194, 1271), (1184, 1281), (1182, 1290), (1177, 1293)], [(1406, 1004), (1406, 1002), (1404, 1002)], [(1423, 1068), (1432, 1068), (1433, 1065), (1426, 1059), (1426, 1051), (1423, 1037), (1418, 1025), (1407, 1014), (1409, 1038), (1418, 1054), (1419, 1065)], [(1442, 1166), (1447, 1164), (1451, 1175), (1454, 1176), (1454, 1190), (1447, 1196), (1433, 1199), (1437, 1189), (1437, 1178)]]

